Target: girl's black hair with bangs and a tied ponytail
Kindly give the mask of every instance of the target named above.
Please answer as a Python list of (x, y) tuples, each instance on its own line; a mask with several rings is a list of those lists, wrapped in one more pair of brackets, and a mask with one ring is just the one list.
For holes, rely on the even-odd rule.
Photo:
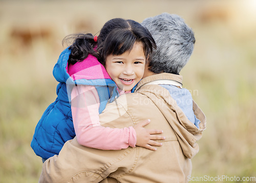
[[(66, 37), (63, 41), (70, 39)], [(105, 65), (108, 55), (121, 55), (125, 51), (131, 51), (135, 42), (143, 44), (145, 57), (148, 58), (156, 48), (156, 43), (150, 32), (140, 23), (134, 20), (114, 18), (107, 21), (102, 27), (95, 42), (92, 34), (77, 34), (70, 46), (71, 55), (68, 63), (75, 64), (87, 58), (88, 54), (95, 56)]]

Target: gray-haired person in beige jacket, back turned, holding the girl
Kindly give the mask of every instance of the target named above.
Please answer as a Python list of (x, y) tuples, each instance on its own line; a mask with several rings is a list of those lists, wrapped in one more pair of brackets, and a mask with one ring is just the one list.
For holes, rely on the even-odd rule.
[(162, 146), (157, 151), (105, 151), (81, 146), (75, 138), (44, 163), (39, 182), (187, 182), (191, 158), (199, 150), (196, 141), (206, 124), (179, 75), (193, 52), (194, 33), (181, 17), (167, 13), (147, 18), (142, 25), (152, 33), (157, 50), (135, 93), (109, 103), (100, 122), (122, 128), (151, 119), (147, 128), (164, 129)]

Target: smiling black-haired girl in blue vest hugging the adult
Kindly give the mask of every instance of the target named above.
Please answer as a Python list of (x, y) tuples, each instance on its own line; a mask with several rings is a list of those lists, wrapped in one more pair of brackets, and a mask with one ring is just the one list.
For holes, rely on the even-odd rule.
[(75, 136), (81, 145), (105, 150), (160, 146), (153, 140), (163, 137), (152, 134), (162, 131), (143, 128), (148, 122), (122, 129), (102, 127), (99, 122), (108, 100), (130, 92), (141, 80), (153, 47), (156, 44), (147, 29), (121, 18), (106, 22), (98, 38), (77, 35), (54, 66), (57, 98), (36, 126), (31, 142), (35, 153), (48, 159)]

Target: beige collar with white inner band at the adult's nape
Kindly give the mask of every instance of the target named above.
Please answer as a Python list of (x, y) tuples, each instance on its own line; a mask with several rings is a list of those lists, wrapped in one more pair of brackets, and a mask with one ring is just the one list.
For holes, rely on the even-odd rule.
[(182, 86), (182, 75), (171, 73), (160, 73), (151, 76), (144, 77), (137, 85), (135, 92), (138, 91), (144, 85), (151, 84), (169, 84), (175, 86)]

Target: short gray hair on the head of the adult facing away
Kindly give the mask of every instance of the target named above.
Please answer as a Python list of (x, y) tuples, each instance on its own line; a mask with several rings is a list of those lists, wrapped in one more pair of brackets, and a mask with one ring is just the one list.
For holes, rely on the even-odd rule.
[(168, 13), (146, 18), (141, 24), (150, 31), (157, 44), (149, 70), (179, 74), (194, 49), (195, 37), (191, 28), (180, 16)]

